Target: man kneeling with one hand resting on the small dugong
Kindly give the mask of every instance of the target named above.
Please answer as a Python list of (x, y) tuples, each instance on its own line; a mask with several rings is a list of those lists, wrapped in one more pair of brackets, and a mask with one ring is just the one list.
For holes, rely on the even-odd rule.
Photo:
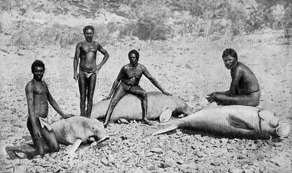
[(53, 126), (46, 118), (48, 116), (48, 102), (63, 118), (69, 118), (72, 114), (65, 115), (48, 90), (48, 86), (42, 77), (45, 72), (45, 65), (42, 61), (36, 60), (32, 64), (34, 78), (25, 86), (25, 94), (28, 106), (27, 128), (34, 142), (31, 146), (6, 147), (6, 152), (11, 159), (18, 158), (15, 152), (24, 153), (28, 158), (45, 153), (58, 152), (60, 147), (56, 140)]

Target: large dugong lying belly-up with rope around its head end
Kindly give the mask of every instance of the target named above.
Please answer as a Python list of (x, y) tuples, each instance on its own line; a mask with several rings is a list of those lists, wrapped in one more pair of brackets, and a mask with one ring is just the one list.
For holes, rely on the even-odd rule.
[(291, 125), (288, 122), (281, 122), (270, 111), (237, 105), (200, 110), (152, 135), (176, 128), (214, 132), (247, 139), (287, 137), (291, 133)]

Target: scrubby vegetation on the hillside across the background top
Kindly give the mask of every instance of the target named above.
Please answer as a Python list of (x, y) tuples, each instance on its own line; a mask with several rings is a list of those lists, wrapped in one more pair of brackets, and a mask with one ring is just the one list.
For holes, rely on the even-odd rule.
[[(214, 40), (267, 28), (284, 29), (285, 37), (292, 36), (292, 3), (289, 0), (69, 0), (65, 5), (59, 1), (50, 3), (59, 4), (46, 11), (31, 8), (26, 11), (23, 6), (13, 10), (11, 6), (2, 5), (0, 14), (6, 16), (1, 18), (1, 33), (10, 34), (15, 40), (48, 38), (74, 45), (83, 39), (83, 26), (79, 21), (90, 19), (100, 40), (133, 36), (141, 40), (198, 37)], [(37, 14), (51, 15), (50, 21), (43, 19), (44, 23), (38, 23), (34, 19)], [(109, 16), (119, 16), (123, 20), (111, 21)], [(60, 18), (72, 20), (74, 25), (68, 26)], [(100, 23), (101, 18), (107, 23)]]

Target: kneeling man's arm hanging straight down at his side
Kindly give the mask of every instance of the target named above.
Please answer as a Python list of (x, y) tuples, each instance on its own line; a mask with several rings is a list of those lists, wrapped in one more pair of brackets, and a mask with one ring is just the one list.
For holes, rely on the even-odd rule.
[(33, 132), (37, 139), (41, 138), (40, 131), (37, 128), (36, 123), (36, 116), (35, 116), (35, 98), (34, 98), (34, 84), (33, 82), (29, 82), (25, 86), (25, 95), (27, 100), (27, 107), (28, 107), (28, 116), (33, 126)]

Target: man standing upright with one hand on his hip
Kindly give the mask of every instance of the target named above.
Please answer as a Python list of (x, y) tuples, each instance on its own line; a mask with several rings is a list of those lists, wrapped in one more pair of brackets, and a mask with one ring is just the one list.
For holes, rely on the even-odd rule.
[[(96, 83), (96, 74), (100, 68), (108, 61), (108, 52), (98, 43), (92, 41), (94, 28), (86, 26), (83, 29), (85, 41), (77, 44), (74, 56), (74, 79), (78, 80), (80, 92), (80, 111), (81, 116), (90, 117), (92, 110), (92, 99)], [(100, 64), (96, 65), (96, 53), (100, 51), (104, 58)], [(78, 61), (79, 74), (77, 73)], [(85, 101), (87, 96), (87, 112), (85, 112)]]

